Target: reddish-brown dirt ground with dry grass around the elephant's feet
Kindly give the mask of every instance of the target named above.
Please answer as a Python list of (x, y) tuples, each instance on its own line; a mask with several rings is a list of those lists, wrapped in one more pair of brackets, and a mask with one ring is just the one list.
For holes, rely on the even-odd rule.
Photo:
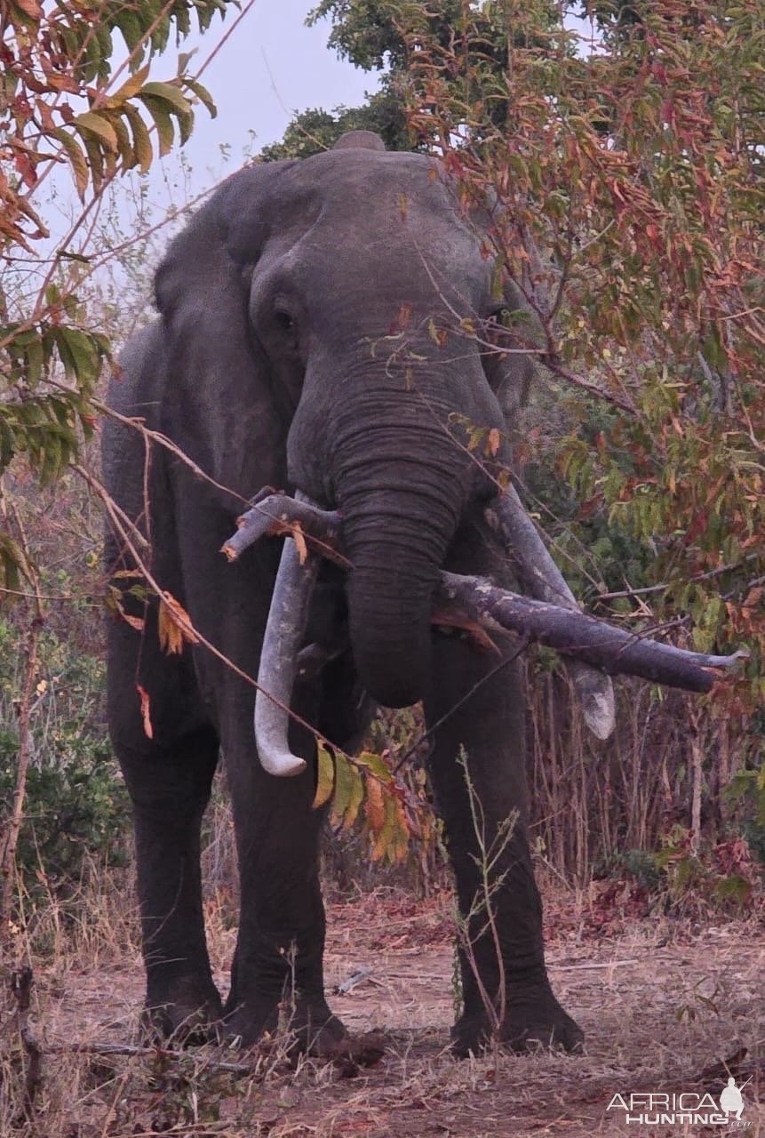
[[(376, 1029), (374, 1066), (315, 1061), (292, 1069), (278, 1052), (252, 1056), (198, 1048), (77, 1054), (136, 1044), (138, 957), (95, 972), (38, 974), (34, 1028), (43, 1041), (47, 1138), (158, 1135), (228, 1138), (500, 1138), (560, 1135), (765, 1135), (765, 938), (754, 920), (695, 927), (665, 918), (593, 925), (548, 906), (548, 959), (562, 1003), (587, 1032), (583, 1056), (449, 1055), (454, 1017), (450, 901), (372, 896), (330, 907), (327, 988), (354, 1033)], [(233, 931), (228, 940), (233, 941)], [(219, 964), (232, 945), (215, 945)], [(224, 976), (219, 976), (225, 988)], [(247, 1074), (222, 1063), (244, 1064)], [(745, 1108), (731, 1125), (625, 1123), (615, 1095), (709, 1092), (732, 1074)], [(745, 1086), (746, 1085), (746, 1086)], [(68, 1097), (67, 1097), (68, 1096)], [(687, 1100), (688, 1102), (688, 1100)], [(60, 1118), (59, 1130), (52, 1129)], [(42, 1129), (40, 1129), (42, 1127)]]

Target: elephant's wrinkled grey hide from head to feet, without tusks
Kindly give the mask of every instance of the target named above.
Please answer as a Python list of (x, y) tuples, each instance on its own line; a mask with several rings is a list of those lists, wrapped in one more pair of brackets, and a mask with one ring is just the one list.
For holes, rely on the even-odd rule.
[[(518, 355), (499, 362), (484, 349), (482, 358), (464, 337), (439, 348), (429, 336), (431, 318), (454, 325), (497, 312), (492, 259), (482, 257), (454, 188), (430, 159), (381, 150), (376, 137), (355, 134), (334, 151), (231, 178), (172, 244), (157, 273), (160, 316), (128, 345), (110, 393), (117, 410), (143, 417), (242, 497), (267, 484), (297, 487), (341, 510), (355, 569), (347, 585), (338, 570), (322, 570), (309, 638), (336, 640), (347, 622), (352, 648), (299, 687), (293, 707), (342, 747), (365, 726), (361, 690), (389, 706), (422, 698), (434, 724), (496, 666), (496, 658), (430, 625), (441, 568), (510, 580), (502, 556), (479, 534), (493, 487), (455, 443), (464, 436), (449, 417), (504, 430), (500, 399), (513, 403), (527, 368)], [(402, 304), (410, 306), (406, 333), (385, 339)], [(408, 376), (391, 358), (404, 339), (422, 357), (409, 361)], [(105, 465), (110, 492), (145, 530), (140, 437), (108, 422)], [(201, 633), (256, 675), (281, 542), (266, 539), (227, 564), (218, 550), (241, 501), (158, 448), (149, 479), (153, 572)], [(107, 552), (111, 568), (130, 566), (117, 539)], [(143, 635), (114, 622), (109, 637), (109, 717), (135, 813), (153, 1022), (172, 1031), (223, 1013), (226, 1031), (252, 1042), (275, 1024), (294, 951), (294, 1026), (303, 1044), (331, 1048), (343, 1028), (324, 997), (310, 736), (291, 734), (293, 750), (309, 762), (306, 774), (275, 778), (255, 754), (251, 686), (202, 648), (164, 655), (151, 613)], [(151, 740), (136, 684), (150, 696)], [(491, 937), (480, 934), (483, 916), (472, 922), (474, 966), (491, 998), (499, 1000), (505, 984), (508, 1044), (574, 1048), (581, 1032), (544, 967), (514, 666), (435, 732), (429, 760), (466, 913), (479, 876), (460, 747), (483, 803), (487, 842), (519, 815), (494, 868), (501, 967)], [(199, 865), (219, 749), (241, 875), (225, 1008), (210, 975)], [(454, 1040), (465, 1054), (480, 1047), (488, 1017), (464, 955), (460, 964), (465, 1006)]]

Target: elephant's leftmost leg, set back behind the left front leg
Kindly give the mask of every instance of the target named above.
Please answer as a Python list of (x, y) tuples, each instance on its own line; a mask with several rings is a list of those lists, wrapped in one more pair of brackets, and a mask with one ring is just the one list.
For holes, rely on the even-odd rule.
[(147, 971), (144, 1026), (197, 1033), (221, 1017), (202, 913), (200, 830), (218, 757), (207, 726), (150, 751), (116, 750), (133, 802)]

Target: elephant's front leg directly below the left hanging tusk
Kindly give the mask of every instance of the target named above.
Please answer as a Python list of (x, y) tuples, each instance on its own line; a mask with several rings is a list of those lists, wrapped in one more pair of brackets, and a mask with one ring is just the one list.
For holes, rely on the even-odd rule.
[[(258, 765), (250, 716), (224, 756), (240, 867), (241, 912), (224, 1011), (226, 1032), (244, 1046), (284, 1028), (294, 1044), (330, 1055), (346, 1030), (324, 996), (324, 904), (318, 880), (322, 815), (313, 741), (292, 737), (308, 769), (278, 778)], [(249, 737), (248, 737), (249, 736)]]

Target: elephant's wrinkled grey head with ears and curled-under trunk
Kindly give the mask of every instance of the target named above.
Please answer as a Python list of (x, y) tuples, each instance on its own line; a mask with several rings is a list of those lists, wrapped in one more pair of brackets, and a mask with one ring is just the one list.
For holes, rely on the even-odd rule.
[(485, 221), (435, 160), (354, 132), (234, 175), (157, 278), (192, 456), (340, 511), (356, 667), (391, 707), (423, 695), (439, 572), (497, 490), (471, 437), (508, 460), (502, 405), (529, 378), (522, 351), (487, 351), (522, 304), (498, 298)]

